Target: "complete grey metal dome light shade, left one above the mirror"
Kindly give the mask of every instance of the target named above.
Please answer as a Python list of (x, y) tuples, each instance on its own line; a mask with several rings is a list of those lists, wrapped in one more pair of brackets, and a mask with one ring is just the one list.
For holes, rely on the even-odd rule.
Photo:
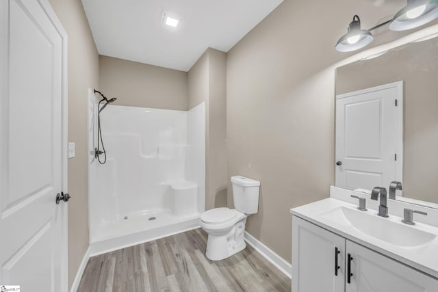
[(350, 52), (362, 49), (372, 42), (373, 37), (369, 30), (361, 29), (361, 20), (355, 15), (353, 21), (348, 25), (348, 32), (344, 34), (335, 46), (338, 52)]

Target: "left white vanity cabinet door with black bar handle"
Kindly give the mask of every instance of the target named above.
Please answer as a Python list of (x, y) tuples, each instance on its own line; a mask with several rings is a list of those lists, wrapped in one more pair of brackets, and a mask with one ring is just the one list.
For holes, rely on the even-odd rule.
[[(344, 292), (345, 239), (299, 217), (292, 219), (292, 291)], [(335, 254), (335, 250), (339, 253)], [(339, 269), (335, 276), (335, 261)]]

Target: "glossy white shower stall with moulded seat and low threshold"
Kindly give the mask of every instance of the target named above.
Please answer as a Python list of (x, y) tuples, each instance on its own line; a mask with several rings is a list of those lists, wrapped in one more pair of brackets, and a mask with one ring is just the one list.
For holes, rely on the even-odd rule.
[(189, 111), (107, 105), (104, 164), (94, 157), (98, 101), (90, 91), (91, 254), (198, 226), (205, 211), (205, 105)]

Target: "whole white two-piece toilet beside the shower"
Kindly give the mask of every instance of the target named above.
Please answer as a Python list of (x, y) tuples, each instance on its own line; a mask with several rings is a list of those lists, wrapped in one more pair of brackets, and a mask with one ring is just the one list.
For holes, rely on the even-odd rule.
[(201, 214), (201, 227), (208, 233), (205, 256), (220, 261), (244, 250), (246, 217), (259, 210), (260, 182), (232, 176), (235, 209), (215, 208)]

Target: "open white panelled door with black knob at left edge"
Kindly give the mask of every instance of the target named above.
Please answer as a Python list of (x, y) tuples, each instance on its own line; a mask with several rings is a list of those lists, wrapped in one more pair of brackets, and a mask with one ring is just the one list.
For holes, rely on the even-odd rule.
[(66, 34), (47, 0), (2, 0), (0, 39), (0, 284), (66, 291)]

